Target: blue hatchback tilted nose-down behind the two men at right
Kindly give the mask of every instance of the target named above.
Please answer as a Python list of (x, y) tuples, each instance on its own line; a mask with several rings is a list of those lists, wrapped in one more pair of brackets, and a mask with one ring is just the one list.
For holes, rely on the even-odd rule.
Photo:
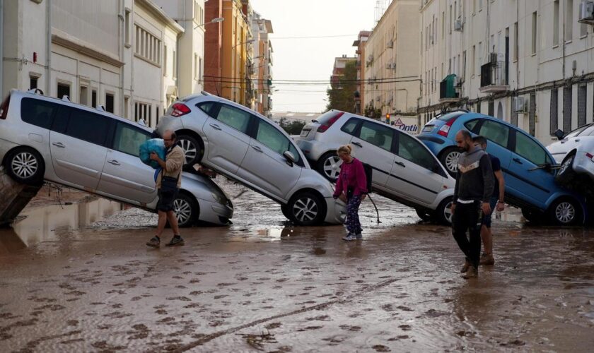
[(505, 201), (521, 208), (527, 220), (548, 219), (557, 225), (581, 225), (587, 220), (583, 196), (555, 184), (558, 166), (552, 155), (517, 126), (493, 116), (460, 110), (432, 119), (417, 137), (455, 176), (460, 155), (455, 136), (461, 129), (489, 140), (487, 152), (501, 160), (506, 179)]

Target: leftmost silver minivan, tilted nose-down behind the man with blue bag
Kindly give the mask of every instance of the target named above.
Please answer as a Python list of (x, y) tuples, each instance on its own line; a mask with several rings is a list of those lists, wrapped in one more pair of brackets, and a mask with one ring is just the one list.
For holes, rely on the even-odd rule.
[[(46, 179), (154, 211), (154, 169), (139, 160), (149, 128), (103, 110), (12, 90), (1, 106), (0, 157), (25, 184)], [(181, 227), (228, 225), (233, 205), (208, 177), (184, 172), (174, 201)]]

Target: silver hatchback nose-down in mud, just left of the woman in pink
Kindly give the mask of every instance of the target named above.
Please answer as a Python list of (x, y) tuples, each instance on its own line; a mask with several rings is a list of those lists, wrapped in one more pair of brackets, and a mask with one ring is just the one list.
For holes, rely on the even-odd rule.
[(171, 105), (157, 126), (175, 131), (186, 164), (200, 162), (281, 204), (298, 225), (344, 222), (332, 184), (312, 169), (274, 121), (240, 104), (203, 92)]

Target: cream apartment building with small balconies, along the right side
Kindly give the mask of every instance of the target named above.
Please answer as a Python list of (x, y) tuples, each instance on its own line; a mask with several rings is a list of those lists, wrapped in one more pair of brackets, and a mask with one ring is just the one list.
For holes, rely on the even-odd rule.
[(593, 26), (578, 0), (423, 0), (421, 124), (467, 108), (544, 145), (593, 121)]

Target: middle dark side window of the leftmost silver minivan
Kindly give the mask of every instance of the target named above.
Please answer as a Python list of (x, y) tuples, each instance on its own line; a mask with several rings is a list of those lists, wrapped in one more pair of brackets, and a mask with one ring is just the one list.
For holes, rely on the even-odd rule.
[(74, 138), (103, 145), (110, 128), (110, 120), (107, 116), (81, 109), (72, 109), (65, 133)]

